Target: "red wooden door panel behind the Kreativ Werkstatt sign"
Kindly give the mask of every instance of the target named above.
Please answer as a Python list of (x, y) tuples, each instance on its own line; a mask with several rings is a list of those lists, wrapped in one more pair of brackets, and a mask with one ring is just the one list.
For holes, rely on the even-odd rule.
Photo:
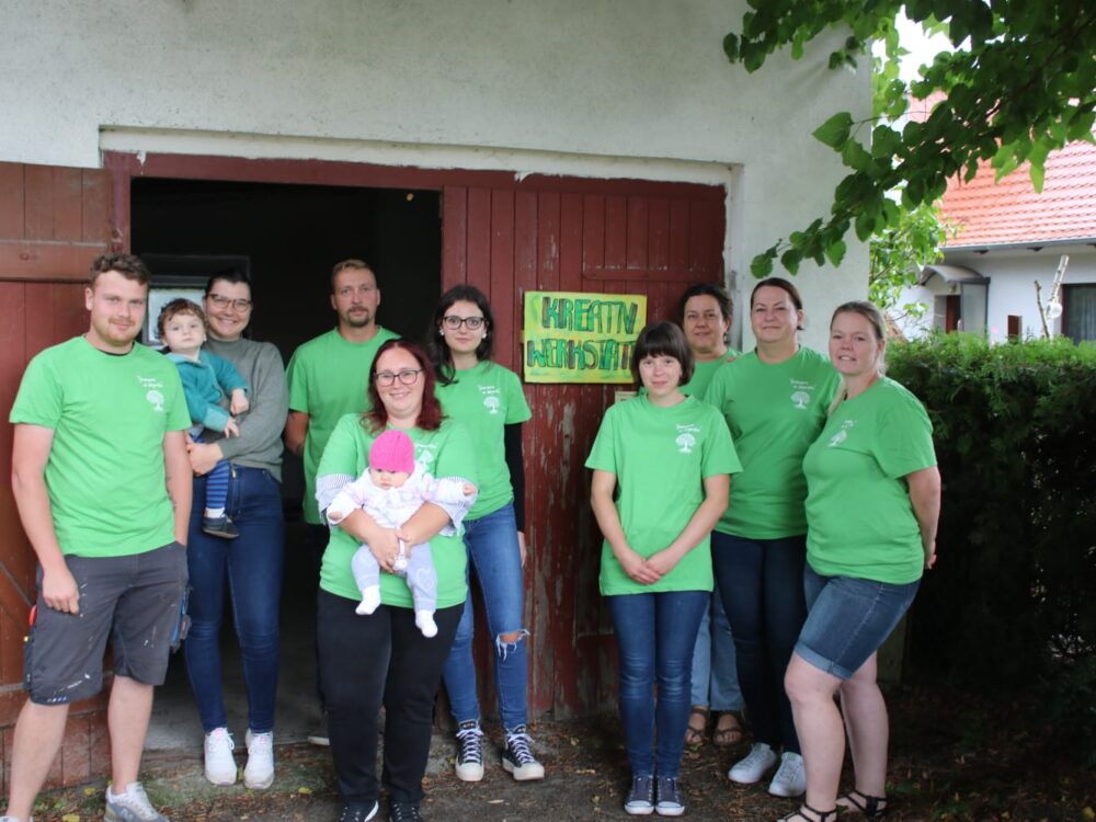
[[(526, 290), (646, 294), (648, 320), (676, 320), (689, 284), (722, 282), (719, 187), (532, 176), (511, 186), (446, 186), (443, 196), (442, 287), (470, 283), (488, 295), (496, 358), (518, 375)], [(525, 386), (534, 716), (614, 704), (612, 628), (597, 591), (601, 535), (583, 465), (615, 388)]]

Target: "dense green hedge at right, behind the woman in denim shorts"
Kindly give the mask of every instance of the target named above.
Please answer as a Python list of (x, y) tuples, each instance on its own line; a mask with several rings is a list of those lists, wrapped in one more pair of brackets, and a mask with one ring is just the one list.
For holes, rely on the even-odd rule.
[(1094, 670), (1096, 347), (947, 334), (888, 358), (928, 409), (944, 478), (911, 673), (1020, 685)]

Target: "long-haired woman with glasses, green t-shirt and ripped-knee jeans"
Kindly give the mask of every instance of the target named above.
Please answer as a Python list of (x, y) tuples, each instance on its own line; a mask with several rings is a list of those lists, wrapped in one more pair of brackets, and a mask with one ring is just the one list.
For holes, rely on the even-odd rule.
[[(526, 558), (525, 468), (522, 423), (533, 414), (517, 375), (491, 362), (494, 317), (487, 297), (470, 285), (444, 295), (434, 312), (429, 349), (437, 369), (437, 396), (447, 416), (471, 432), (480, 477), (479, 499), (465, 521), (465, 545), (476, 569), (494, 648), (494, 682), (505, 743), (502, 767), (520, 781), (543, 779), (528, 734), (528, 664), (524, 624)], [(457, 721), (457, 777), (483, 778), (483, 731), (472, 662), (475, 619), (465, 602), (445, 688)]]

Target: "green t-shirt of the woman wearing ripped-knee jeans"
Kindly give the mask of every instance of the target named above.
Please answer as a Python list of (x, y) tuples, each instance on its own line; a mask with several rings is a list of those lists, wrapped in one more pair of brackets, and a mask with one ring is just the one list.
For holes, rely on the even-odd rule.
[(480, 482), (467, 518), (478, 520), (514, 499), (503, 426), (525, 422), (533, 412), (517, 375), (498, 363), (484, 361), (455, 376), (455, 383), (437, 384), (437, 398), (445, 415), (463, 422), (472, 434)]

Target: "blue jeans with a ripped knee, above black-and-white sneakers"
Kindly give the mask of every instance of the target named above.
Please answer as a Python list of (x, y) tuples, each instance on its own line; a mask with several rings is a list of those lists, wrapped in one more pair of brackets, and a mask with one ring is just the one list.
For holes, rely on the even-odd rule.
[[(507, 503), (498, 511), (465, 520), (465, 545), (468, 547), (468, 568), (476, 569), (487, 626), (494, 637), (494, 687), (499, 698), (502, 726), (513, 730), (528, 721), (528, 662), (525, 650), (524, 626), (525, 575), (522, 555), (517, 545), (517, 524), (514, 505)], [(476, 665), (472, 662), (472, 636), (476, 620), (472, 612), (471, 589), (465, 601), (465, 610), (457, 626), (453, 649), (445, 661), (445, 689), (457, 722), (480, 718), (476, 695)], [(503, 642), (503, 633), (520, 631), (516, 642)]]

